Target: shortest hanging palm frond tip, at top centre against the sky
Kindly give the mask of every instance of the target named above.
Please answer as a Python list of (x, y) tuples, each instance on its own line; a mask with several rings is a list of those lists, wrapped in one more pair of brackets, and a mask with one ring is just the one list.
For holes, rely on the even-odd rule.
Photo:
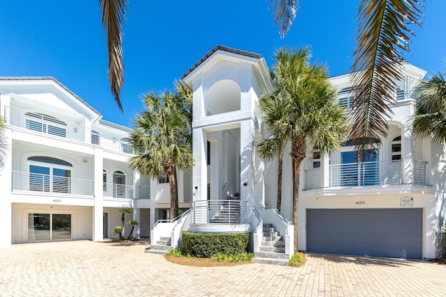
[(270, 8), (274, 13), (274, 23), (279, 26), (280, 37), (284, 38), (295, 19), (299, 0), (270, 0)]

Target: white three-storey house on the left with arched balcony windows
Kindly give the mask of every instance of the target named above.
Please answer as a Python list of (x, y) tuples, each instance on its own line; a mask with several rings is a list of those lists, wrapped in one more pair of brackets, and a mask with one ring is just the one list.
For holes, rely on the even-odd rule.
[[(52, 77), (0, 77), (6, 162), (0, 170), (0, 247), (11, 243), (116, 237), (121, 207), (150, 236), (167, 218), (169, 184), (130, 170), (130, 128), (102, 115)], [(151, 187), (155, 185), (155, 187)], [(190, 182), (179, 179), (180, 207)], [(184, 188), (185, 187), (185, 188)], [(126, 227), (125, 236), (130, 232)]]

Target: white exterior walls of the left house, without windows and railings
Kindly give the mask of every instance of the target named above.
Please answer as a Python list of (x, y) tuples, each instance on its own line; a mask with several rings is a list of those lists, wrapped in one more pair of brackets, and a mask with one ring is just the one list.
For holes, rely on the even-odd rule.
[[(49, 115), (66, 123), (66, 137), (48, 134), (45, 131), (34, 131), (26, 126), (26, 113)], [(6, 117), (6, 142), (10, 143), (10, 154), (6, 158), (4, 168), (0, 171), (0, 205), (3, 209), (1, 225), (5, 236), (0, 239), (0, 248), (10, 243), (27, 241), (26, 211), (61, 211), (72, 214), (72, 239), (102, 240), (102, 215), (109, 214), (109, 237), (113, 237), (113, 227), (121, 225), (123, 206), (134, 208), (133, 214), (125, 215), (125, 223), (136, 218), (140, 222), (135, 227), (136, 236), (148, 236), (155, 223), (155, 212), (161, 208), (169, 208), (169, 199), (160, 204), (151, 200), (149, 195), (139, 199), (139, 185), (150, 186), (150, 179), (144, 177), (140, 183), (138, 172), (130, 170), (128, 159), (132, 156), (123, 152), (123, 144), (128, 138), (128, 128), (100, 121), (101, 115), (86, 102), (63, 87), (58, 81), (48, 78), (16, 78), (0, 81), (0, 115)], [(31, 118), (31, 120), (34, 120)], [(45, 122), (42, 118), (37, 121)], [(48, 125), (48, 123), (47, 123)], [(51, 124), (51, 122), (49, 123)], [(91, 131), (99, 133), (98, 142), (91, 143)], [(73, 135), (71, 135), (73, 134)], [(82, 136), (79, 138), (78, 136)], [(74, 195), (72, 193), (56, 193), (47, 191), (28, 191), (26, 184), (20, 191), (11, 189), (13, 173), (22, 172), (26, 183), (29, 179), (30, 156), (50, 156), (72, 164), (69, 168), (72, 179), (87, 179), (95, 189), (92, 195)], [(113, 184), (113, 173), (121, 171), (125, 174), (125, 185), (132, 188), (130, 197), (109, 197), (112, 192), (102, 190), (102, 170), (107, 173), (106, 182)], [(178, 177), (180, 207), (189, 208), (192, 198), (192, 174), (181, 172)], [(167, 186), (168, 188), (168, 186)], [(157, 193), (157, 186), (152, 193)], [(167, 197), (169, 191), (167, 191)], [(157, 197), (157, 195), (155, 195)], [(136, 200), (134, 200), (136, 199)], [(49, 212), (48, 212), (49, 211)], [(12, 222), (12, 225), (11, 225)], [(126, 236), (131, 226), (125, 225)], [(117, 235), (116, 235), (117, 236)], [(116, 237), (115, 236), (115, 237)]]

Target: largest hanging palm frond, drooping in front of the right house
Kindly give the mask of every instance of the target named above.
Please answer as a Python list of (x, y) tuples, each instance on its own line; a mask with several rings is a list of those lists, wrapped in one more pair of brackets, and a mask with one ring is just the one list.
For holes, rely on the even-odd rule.
[(401, 79), (403, 54), (410, 52), (409, 24), (422, 25), (424, 1), (362, 0), (358, 10), (357, 49), (353, 54), (354, 99), (351, 139), (358, 159), (373, 145), (371, 139), (387, 136), (387, 104), (394, 103)]

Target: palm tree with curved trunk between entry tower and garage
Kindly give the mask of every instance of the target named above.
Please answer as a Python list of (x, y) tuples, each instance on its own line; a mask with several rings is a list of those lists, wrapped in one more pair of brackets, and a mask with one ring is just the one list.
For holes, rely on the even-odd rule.
[[(266, 121), (273, 139), (271, 150), (279, 152), (277, 147), (291, 141), (295, 252), (298, 250), (300, 167), (307, 156), (307, 146), (318, 147), (321, 154), (329, 154), (341, 145), (349, 132), (347, 115), (337, 101), (336, 90), (330, 87), (327, 69), (321, 65), (309, 65), (309, 57), (307, 48), (297, 51), (279, 49), (275, 53), (273, 68), (277, 90), (266, 96), (279, 97), (282, 101), (282, 118), (269, 124)], [(281, 145), (277, 145), (280, 143), (278, 140), (282, 141)]]

